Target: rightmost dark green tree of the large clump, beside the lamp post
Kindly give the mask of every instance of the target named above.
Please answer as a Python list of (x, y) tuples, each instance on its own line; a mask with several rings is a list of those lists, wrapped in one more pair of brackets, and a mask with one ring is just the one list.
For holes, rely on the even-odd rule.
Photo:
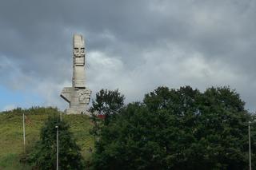
[(208, 166), (246, 169), (250, 114), (245, 102), (229, 87), (209, 88), (198, 98), (198, 123), (194, 132)]

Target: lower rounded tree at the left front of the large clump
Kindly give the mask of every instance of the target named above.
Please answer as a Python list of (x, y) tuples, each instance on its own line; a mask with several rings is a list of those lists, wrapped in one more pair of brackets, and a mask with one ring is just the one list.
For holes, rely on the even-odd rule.
[(134, 103), (105, 125), (95, 144), (94, 169), (161, 169), (163, 148), (152, 116), (145, 105)]

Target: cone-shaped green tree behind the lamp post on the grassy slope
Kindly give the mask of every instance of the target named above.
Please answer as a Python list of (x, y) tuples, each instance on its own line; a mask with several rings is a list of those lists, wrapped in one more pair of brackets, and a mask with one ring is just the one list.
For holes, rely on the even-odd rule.
[(59, 169), (83, 169), (80, 148), (69, 131), (70, 126), (58, 116), (49, 117), (41, 129), (40, 140), (30, 153), (30, 163), (39, 169), (56, 168), (56, 128), (59, 139)]

